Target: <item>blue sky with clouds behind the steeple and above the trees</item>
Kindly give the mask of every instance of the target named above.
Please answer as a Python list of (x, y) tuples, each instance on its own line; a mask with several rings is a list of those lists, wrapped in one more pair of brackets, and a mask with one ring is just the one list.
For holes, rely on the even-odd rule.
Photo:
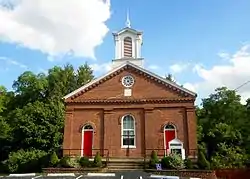
[[(66, 1), (63, 2), (66, 4), (68, 3)], [(26, 70), (38, 73), (54, 65), (64, 65), (66, 63), (71, 63), (77, 67), (85, 63), (85, 61), (95, 65), (95, 74), (97, 76), (105, 73), (102, 70), (104, 68), (97, 67), (104, 67), (114, 58), (112, 32), (125, 26), (128, 8), (132, 28), (142, 30), (144, 33), (142, 56), (145, 58), (146, 68), (160, 75), (173, 73), (178, 83), (185, 84), (187, 88), (195, 90), (199, 98), (206, 97), (214, 88), (221, 85), (236, 88), (250, 80), (250, 70), (247, 69), (247, 64), (250, 65), (249, 0), (111, 0), (109, 8), (105, 8), (104, 5), (98, 6), (101, 9), (98, 9), (94, 4), (88, 5), (86, 1), (85, 4), (86, 8), (89, 6), (88, 9), (92, 8), (94, 13), (100, 14), (98, 17), (96, 15), (93, 18), (96, 21), (97, 18), (106, 17), (106, 20), (102, 19), (104, 22), (98, 22), (109, 29), (105, 35), (103, 33), (100, 35), (99, 40), (103, 40), (103, 42), (96, 47), (92, 46), (95, 59), (91, 59), (91, 55), (86, 55), (87, 50), (86, 53), (84, 50), (81, 52), (81, 46), (79, 47), (72, 42), (72, 39), (77, 39), (77, 36), (74, 35), (72, 39), (64, 37), (65, 41), (63, 41), (63, 38), (58, 44), (69, 44), (67, 48), (72, 48), (73, 51), (77, 49), (80, 55), (57, 55), (53, 57), (53, 61), (48, 60), (50, 59), (48, 56), (51, 56), (53, 50), (51, 48), (46, 51), (44, 46), (41, 48), (42, 43), (37, 47), (36, 42), (40, 37), (34, 40), (32, 35), (30, 37), (26, 36), (25, 39), (16, 35), (22, 33), (20, 27), (23, 27), (25, 23), (28, 24), (28, 27), (34, 27), (32, 25), (36, 21), (36, 15), (32, 16), (32, 13), (35, 12), (25, 10), (25, 12), (29, 11), (29, 13), (26, 16), (22, 14), (23, 19), (10, 18), (0, 8), (0, 12), (2, 11), (0, 13), (0, 84), (11, 89), (13, 80)], [(48, 8), (48, 6), (40, 9)], [(35, 3), (34, 7), (37, 8)], [(65, 7), (59, 8), (63, 11)], [(23, 5), (23, 9), (25, 8)], [(69, 14), (74, 12), (73, 5), (71, 8), (72, 11), (63, 11), (64, 14), (65, 12)], [(67, 9), (65, 8), (65, 10)], [(98, 29), (94, 28), (94, 23), (93, 26), (88, 27), (90, 23), (87, 22), (91, 21), (91, 14), (81, 14), (83, 11), (80, 8), (77, 10), (79, 10), (79, 16), (75, 13), (69, 15), (69, 17), (74, 18), (74, 21), (79, 24), (82, 23), (84, 28), (90, 28), (89, 33), (91, 31), (95, 31), (96, 34), (99, 33)], [(101, 13), (104, 13), (104, 15)], [(107, 13), (110, 13), (110, 16)], [(63, 18), (65, 16), (61, 17), (61, 20)], [(95, 21), (93, 19), (92, 21)], [(4, 21), (5, 23), (3, 23)], [(11, 26), (12, 30), (16, 31), (13, 33), (6, 32), (7, 28), (3, 28), (4, 30), (1, 28), (2, 25), (9, 21), (19, 22), (22, 26), (19, 26), (19, 28)], [(48, 25), (43, 25), (43, 21), (40, 22), (41, 24), (36, 23), (35, 26), (36, 29), (41, 28), (41, 30), (37, 30), (37, 33), (45, 32), (45, 26)], [(63, 23), (62, 21), (58, 24), (62, 25)], [(41, 27), (38, 27), (38, 25)], [(103, 26), (98, 27), (101, 29)], [(64, 36), (71, 37), (68, 33), (71, 31), (68, 30), (67, 32), (67, 28), (64, 29), (60, 26), (59, 32), (62, 32)], [(77, 32), (82, 37), (86, 35), (83, 31)], [(72, 47), (70, 44), (72, 44)], [(35, 47), (33, 48), (32, 45)], [(83, 49), (88, 49), (87, 45), (85, 43)], [(66, 47), (60, 47), (61, 51), (64, 48)], [(249, 89), (250, 85), (246, 85), (239, 93), (244, 98), (247, 98), (250, 96)]]

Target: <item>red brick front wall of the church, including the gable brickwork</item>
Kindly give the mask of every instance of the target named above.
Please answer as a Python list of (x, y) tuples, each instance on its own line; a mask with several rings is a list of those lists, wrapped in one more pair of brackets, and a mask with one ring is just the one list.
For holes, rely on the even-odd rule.
[[(135, 77), (135, 84), (132, 87), (132, 96), (124, 97), (124, 87), (120, 80), (128, 73)], [(166, 99), (183, 97), (138, 73), (123, 71), (77, 97), (76, 100), (114, 98)], [(149, 148), (163, 149), (164, 133), (162, 127), (168, 122), (175, 124), (177, 127), (177, 136), (184, 142), (184, 147), (195, 149), (197, 145), (196, 119), (193, 107), (192, 102), (117, 105), (67, 104), (64, 149), (81, 149), (81, 127), (86, 123), (91, 123), (95, 128), (94, 148), (109, 149), (110, 156), (114, 157), (128, 155), (127, 149), (121, 148), (121, 118), (126, 114), (132, 114), (136, 120), (136, 149), (130, 149), (129, 156), (144, 156), (145, 149)]]

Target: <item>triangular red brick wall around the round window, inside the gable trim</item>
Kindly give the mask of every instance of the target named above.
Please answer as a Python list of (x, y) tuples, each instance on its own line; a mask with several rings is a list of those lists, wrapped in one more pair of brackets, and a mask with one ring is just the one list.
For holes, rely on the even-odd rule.
[[(132, 96), (124, 97), (124, 86), (121, 83), (123, 76), (131, 74), (135, 78), (135, 84), (132, 87)], [(159, 84), (154, 80), (148, 79), (142, 75), (128, 70), (123, 71), (119, 75), (99, 84), (90, 91), (82, 94), (76, 99), (151, 99), (151, 98), (179, 98), (180, 96), (163, 84)]]

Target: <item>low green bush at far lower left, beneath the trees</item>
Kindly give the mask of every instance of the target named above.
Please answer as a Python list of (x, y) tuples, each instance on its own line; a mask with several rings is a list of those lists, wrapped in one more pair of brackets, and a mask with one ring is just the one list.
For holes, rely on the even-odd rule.
[(41, 172), (47, 162), (47, 153), (41, 150), (18, 150), (11, 152), (4, 162), (9, 172)]

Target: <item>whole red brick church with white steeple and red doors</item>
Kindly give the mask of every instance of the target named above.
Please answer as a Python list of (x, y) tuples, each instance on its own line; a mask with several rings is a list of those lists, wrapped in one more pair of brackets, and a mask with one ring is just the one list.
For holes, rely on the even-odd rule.
[(196, 94), (144, 68), (142, 32), (113, 33), (112, 70), (64, 97), (64, 154), (141, 158), (197, 149)]

